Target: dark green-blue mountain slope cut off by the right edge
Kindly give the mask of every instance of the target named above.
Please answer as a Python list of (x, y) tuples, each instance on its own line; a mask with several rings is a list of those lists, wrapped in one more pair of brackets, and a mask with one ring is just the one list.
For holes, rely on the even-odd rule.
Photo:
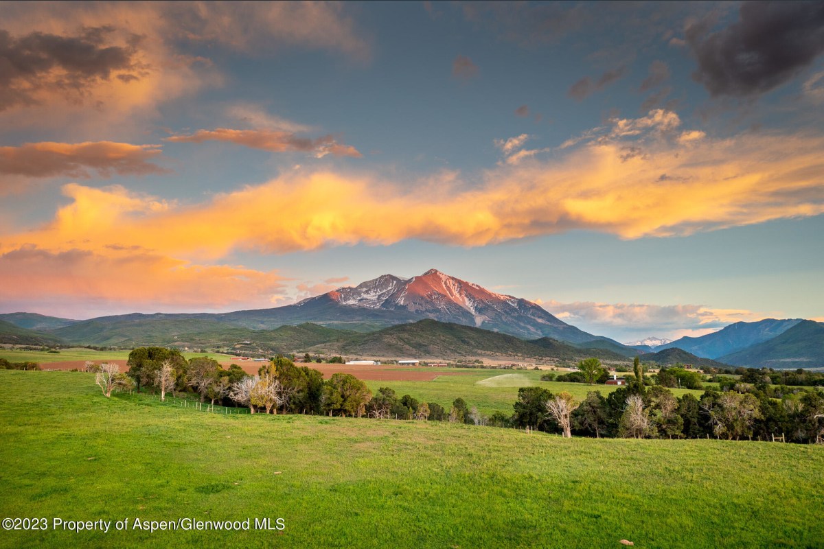
[(722, 356), (719, 360), (754, 368), (817, 368), (824, 366), (824, 323), (801, 320), (765, 342)]

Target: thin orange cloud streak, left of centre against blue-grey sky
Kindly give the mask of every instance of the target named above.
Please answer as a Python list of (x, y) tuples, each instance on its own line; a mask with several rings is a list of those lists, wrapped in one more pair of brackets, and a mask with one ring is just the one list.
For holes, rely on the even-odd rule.
[(223, 141), (260, 149), (269, 152), (301, 151), (309, 152), (317, 158), (328, 154), (334, 156), (352, 156), (360, 158), (361, 153), (354, 147), (336, 142), (335, 139), (326, 135), (317, 139), (307, 139), (297, 137), (291, 132), (281, 132), (276, 130), (238, 130), (217, 128), (214, 130), (199, 130), (191, 135), (176, 135), (166, 137), (166, 141), (202, 143), (204, 141)]

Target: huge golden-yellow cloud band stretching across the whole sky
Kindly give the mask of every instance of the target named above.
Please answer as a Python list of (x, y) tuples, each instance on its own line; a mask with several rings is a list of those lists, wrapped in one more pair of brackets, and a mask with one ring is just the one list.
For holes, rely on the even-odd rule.
[[(400, 186), (296, 170), (209, 202), (176, 205), (120, 187), (71, 184), (63, 193), (73, 202), (54, 221), (3, 235), (0, 251), (22, 244), (65, 250), (67, 243), (84, 242), (96, 251), (137, 244), (202, 260), (236, 249), (283, 253), (406, 239), (480, 246), (575, 229), (625, 239), (689, 235), (824, 212), (822, 137), (742, 134), (680, 142), (677, 135), (667, 138), (653, 128), (630, 142), (597, 139), (559, 161), (489, 170), (476, 186), (455, 173)], [(237, 214), (232, 223), (216, 223), (226, 212)]]

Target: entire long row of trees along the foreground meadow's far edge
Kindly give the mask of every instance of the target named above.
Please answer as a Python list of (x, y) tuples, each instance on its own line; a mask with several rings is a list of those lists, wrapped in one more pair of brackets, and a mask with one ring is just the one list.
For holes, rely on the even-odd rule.
[[(594, 381), (602, 372), (593, 367), (582, 374)], [(117, 388), (159, 391), (162, 399), (168, 392), (191, 392), (201, 402), (228, 399), (248, 407), (250, 413), (451, 421), (558, 432), (565, 437), (770, 440), (773, 434), (785, 434), (788, 441), (824, 442), (824, 397), (817, 389), (798, 387), (776, 398), (776, 388), (765, 379), (756, 379), (759, 383), (755, 384), (739, 379), (721, 390), (708, 389), (700, 398), (689, 393), (677, 398), (667, 388), (692, 384), (694, 375), (672, 368), (650, 379), (636, 359), (629, 383), (606, 397), (595, 390), (578, 401), (569, 393), (523, 387), (511, 416), (503, 412), (484, 416), (477, 407), (469, 408), (463, 398), (456, 398), (447, 409), (408, 394), (399, 397), (387, 387), (373, 395), (353, 375), (336, 373), (323, 379), (320, 371), (280, 356), (262, 365), (257, 375), (246, 375), (237, 365), (223, 370), (208, 357), (186, 361), (179, 351), (143, 347), (129, 355), (127, 374), (120, 373), (116, 365), (101, 365), (96, 381), (107, 397)]]

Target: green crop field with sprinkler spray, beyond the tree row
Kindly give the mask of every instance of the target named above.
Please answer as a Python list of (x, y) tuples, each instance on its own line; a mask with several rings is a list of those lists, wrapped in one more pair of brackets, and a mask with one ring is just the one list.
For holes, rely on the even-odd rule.
[[(415, 369), (427, 370), (427, 369)], [(520, 387), (529, 385), (541, 385), (552, 393), (566, 391), (578, 400), (587, 397), (589, 391), (601, 391), (606, 397), (608, 393), (614, 391), (616, 385), (588, 385), (559, 383), (556, 381), (541, 381), (541, 375), (545, 371), (541, 370), (480, 370), (463, 368), (438, 368), (443, 372), (458, 372), (462, 375), (440, 375), (432, 381), (366, 381), (369, 390), (376, 393), (378, 388), (390, 387), (395, 389), (397, 395), (409, 394), (419, 401), (438, 402), (447, 410), (452, 406), (452, 401), (456, 398), (463, 398), (468, 407), (476, 406), (478, 410), (486, 415), (494, 412), (513, 412), (513, 402), (517, 400), (517, 390)], [(432, 371), (428, 369), (427, 371)], [(703, 391), (693, 391), (689, 389), (670, 389), (672, 393), (680, 397), (685, 393), (693, 393), (700, 398)]]

